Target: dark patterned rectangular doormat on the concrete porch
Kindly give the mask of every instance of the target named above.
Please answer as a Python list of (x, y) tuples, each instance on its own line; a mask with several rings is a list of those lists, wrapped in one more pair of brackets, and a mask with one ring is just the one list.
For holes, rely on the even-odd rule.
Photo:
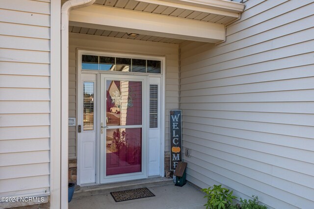
[(154, 197), (155, 195), (148, 188), (136, 188), (124, 191), (110, 192), (114, 201), (122, 202), (127, 200), (135, 200), (145, 197)]

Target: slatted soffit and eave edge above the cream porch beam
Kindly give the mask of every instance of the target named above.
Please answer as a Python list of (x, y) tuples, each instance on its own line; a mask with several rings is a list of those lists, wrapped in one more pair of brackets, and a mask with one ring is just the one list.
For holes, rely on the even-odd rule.
[(228, 0), (96, 0), (95, 4), (211, 23), (239, 18), (244, 4)]

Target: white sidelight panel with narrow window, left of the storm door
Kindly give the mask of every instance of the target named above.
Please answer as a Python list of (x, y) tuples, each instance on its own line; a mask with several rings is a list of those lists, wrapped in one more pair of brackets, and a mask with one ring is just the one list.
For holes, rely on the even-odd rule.
[(78, 185), (96, 184), (96, 74), (81, 74), (78, 85)]

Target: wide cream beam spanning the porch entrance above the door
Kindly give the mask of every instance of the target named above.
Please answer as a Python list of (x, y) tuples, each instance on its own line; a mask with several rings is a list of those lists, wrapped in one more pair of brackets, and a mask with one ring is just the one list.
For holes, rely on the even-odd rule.
[(98, 5), (71, 11), (70, 25), (208, 43), (225, 39), (222, 24)]

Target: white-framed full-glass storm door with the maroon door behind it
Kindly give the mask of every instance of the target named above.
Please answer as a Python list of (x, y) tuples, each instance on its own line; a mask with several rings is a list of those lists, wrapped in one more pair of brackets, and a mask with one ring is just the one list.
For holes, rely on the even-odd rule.
[(147, 178), (147, 76), (100, 82), (100, 183)]

